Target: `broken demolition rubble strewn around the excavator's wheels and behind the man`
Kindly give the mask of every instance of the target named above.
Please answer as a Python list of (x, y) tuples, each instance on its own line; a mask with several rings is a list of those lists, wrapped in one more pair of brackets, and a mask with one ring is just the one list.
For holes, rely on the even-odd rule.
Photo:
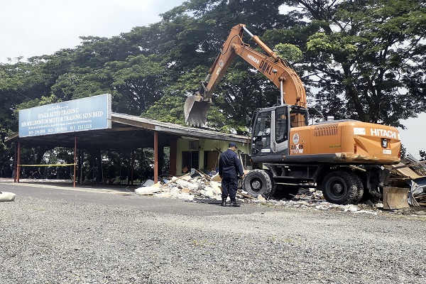
[[(426, 173), (424, 161), (419, 162), (410, 157), (402, 160), (398, 165), (388, 166), (391, 170), (391, 180), (400, 180), (406, 186), (411, 187), (408, 203), (411, 206), (426, 206)], [(126, 195), (152, 195), (154, 197), (170, 197), (190, 202), (221, 203), (222, 189), (219, 175), (207, 175), (200, 170), (191, 169), (191, 173), (180, 177), (162, 175), (157, 184), (153, 180), (144, 182), (133, 194)], [(410, 186), (411, 185), (411, 186)], [(347, 212), (368, 212), (376, 214), (383, 209), (382, 203), (373, 204), (367, 201), (365, 204), (339, 205), (324, 200), (320, 190), (300, 189), (292, 200), (279, 200), (274, 197), (266, 200), (262, 196), (252, 197), (248, 192), (239, 190), (237, 200), (242, 203), (263, 204), (266, 206), (280, 207), (309, 207), (317, 210), (337, 209)]]

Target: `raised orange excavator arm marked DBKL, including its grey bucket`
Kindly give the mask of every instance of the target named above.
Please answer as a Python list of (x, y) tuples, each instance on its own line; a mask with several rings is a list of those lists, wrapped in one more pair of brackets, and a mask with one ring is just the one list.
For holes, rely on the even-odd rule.
[[(253, 50), (250, 45), (244, 43), (243, 33), (249, 33), (266, 54)], [(200, 91), (187, 97), (185, 101), (185, 121), (190, 125), (203, 125), (207, 121), (207, 111), (212, 103), (212, 95), (219, 82), (224, 77), (226, 70), (231, 65), (235, 56), (249, 62), (268, 77), (269, 80), (280, 89), (281, 104), (295, 104), (306, 107), (305, 87), (295, 71), (288, 67), (273, 51), (262, 42), (257, 35), (250, 33), (244, 24), (231, 28), (228, 38), (219, 55), (210, 68), (206, 80), (202, 82)]]

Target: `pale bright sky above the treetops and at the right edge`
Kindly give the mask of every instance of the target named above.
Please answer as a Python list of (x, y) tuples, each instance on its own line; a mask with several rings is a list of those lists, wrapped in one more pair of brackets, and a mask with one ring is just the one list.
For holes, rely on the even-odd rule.
[[(0, 63), (23, 56), (51, 55), (80, 45), (80, 36), (111, 37), (148, 26), (184, 0), (2, 0)], [(237, 23), (236, 23), (237, 24)], [(231, 28), (231, 27), (229, 27)], [(13, 62), (13, 61), (12, 61)], [(425, 110), (426, 111), (426, 110)], [(426, 151), (426, 113), (398, 129), (408, 152)]]

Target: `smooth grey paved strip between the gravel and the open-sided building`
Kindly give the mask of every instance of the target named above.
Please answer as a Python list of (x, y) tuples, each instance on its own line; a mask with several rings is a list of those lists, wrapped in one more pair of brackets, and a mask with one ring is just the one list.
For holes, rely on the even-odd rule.
[[(20, 196), (43, 198), (46, 200), (67, 200), (84, 204), (104, 204), (112, 207), (136, 208), (155, 213), (188, 214), (188, 215), (217, 215), (217, 214), (246, 214), (268, 212), (271, 207), (256, 204), (243, 204), (241, 207), (221, 207), (219, 203), (185, 202), (173, 198), (159, 198), (140, 195), (125, 195), (132, 193), (136, 186), (124, 185), (76, 185), (72, 182), (20, 182), (11, 180), (0, 182), (0, 191), (13, 192), (18, 199)], [(279, 210), (279, 209), (278, 209)]]

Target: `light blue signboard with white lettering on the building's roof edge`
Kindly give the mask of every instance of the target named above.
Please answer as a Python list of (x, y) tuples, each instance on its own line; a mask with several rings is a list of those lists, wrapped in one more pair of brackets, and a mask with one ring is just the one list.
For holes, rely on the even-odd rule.
[(111, 128), (111, 94), (19, 111), (19, 137)]

